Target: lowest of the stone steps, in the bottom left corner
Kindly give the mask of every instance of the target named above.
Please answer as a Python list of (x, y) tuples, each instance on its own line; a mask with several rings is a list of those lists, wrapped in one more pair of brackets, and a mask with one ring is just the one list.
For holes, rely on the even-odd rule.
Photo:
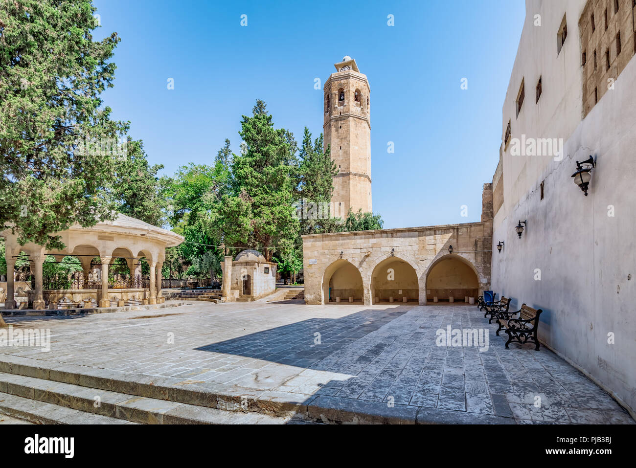
[(0, 392), (0, 413), (34, 424), (135, 424), (3, 392)]

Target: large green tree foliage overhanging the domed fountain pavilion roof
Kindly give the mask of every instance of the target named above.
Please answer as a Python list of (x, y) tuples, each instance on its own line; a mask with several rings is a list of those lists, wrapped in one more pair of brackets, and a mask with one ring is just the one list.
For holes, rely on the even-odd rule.
[(100, 108), (120, 39), (93, 41), (94, 11), (88, 0), (0, 3), (0, 228), (13, 224), (23, 244), (62, 248), (51, 233), (114, 217), (116, 155), (78, 151), (128, 129)]

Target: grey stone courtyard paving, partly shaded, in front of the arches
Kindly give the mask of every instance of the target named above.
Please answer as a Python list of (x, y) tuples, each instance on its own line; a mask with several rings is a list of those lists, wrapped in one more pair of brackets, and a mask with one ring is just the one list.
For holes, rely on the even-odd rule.
[[(6, 320), (50, 328), (52, 344), (50, 352), (0, 348), (0, 361), (13, 354), (290, 392), (322, 408), (365, 402), (386, 411), (415, 408), (425, 422), (634, 423), (606, 392), (547, 348), (511, 344), (506, 350), (505, 333), (495, 336), (497, 326), (476, 306), (195, 303)], [(449, 325), (486, 329), (488, 349), (438, 347), (436, 331)]]

